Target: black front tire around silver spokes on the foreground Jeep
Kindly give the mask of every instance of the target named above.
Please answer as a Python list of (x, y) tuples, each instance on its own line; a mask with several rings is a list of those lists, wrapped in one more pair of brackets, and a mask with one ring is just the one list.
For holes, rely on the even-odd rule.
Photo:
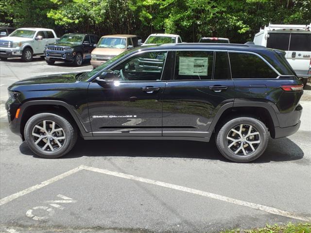
[[(55, 122), (55, 125), (62, 128), (63, 131), (61, 131), (62, 134), (60, 134), (60, 137), (64, 137), (64, 140), (60, 140), (61, 141), (60, 144), (63, 143), (62, 146), (58, 146), (59, 144), (57, 144), (56, 141), (54, 140), (54, 138), (57, 138), (57, 136), (59, 135), (59, 134), (57, 135), (55, 134), (56, 131), (54, 134), (47, 133), (46, 134), (47, 137), (45, 137), (44, 133), (42, 133), (41, 134), (42, 139), (37, 144), (35, 143), (35, 141), (37, 141), (39, 137), (34, 136), (33, 133), (35, 133), (35, 135), (38, 135), (39, 133), (37, 133), (36, 130), (43, 132), (42, 130), (36, 127), (36, 126), (39, 126), (40, 122), (43, 122), (43, 121), (46, 121), (45, 129), (50, 128), (52, 125), (51, 124), (52, 122)], [(50, 138), (52, 137), (51, 135), (52, 136), (54, 135), (54, 138)], [(25, 125), (25, 129), (24, 129), (24, 136), (25, 136), (25, 140), (29, 148), (36, 155), (42, 158), (59, 158), (67, 154), (73, 148), (73, 146), (75, 145), (77, 141), (78, 134), (77, 134), (77, 130), (75, 129), (74, 125), (71, 124), (63, 116), (59, 116), (53, 113), (39, 113), (39, 114), (36, 114), (30, 117), (29, 120), (27, 121)], [(49, 139), (51, 141), (49, 141)], [(52, 143), (54, 144), (54, 146), (52, 145)], [(44, 149), (44, 146), (40, 147), (40, 145), (45, 145), (45, 144), (50, 144), (51, 146), (48, 145), (46, 147), (47, 150), (42, 150)], [(56, 150), (53, 149), (54, 151), (52, 151), (51, 147), (52, 148), (55, 147)]]

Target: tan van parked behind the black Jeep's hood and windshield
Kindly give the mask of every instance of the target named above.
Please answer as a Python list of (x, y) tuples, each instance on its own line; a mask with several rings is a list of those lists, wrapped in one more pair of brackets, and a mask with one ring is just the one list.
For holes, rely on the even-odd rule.
[(99, 67), (114, 56), (140, 45), (141, 39), (137, 35), (104, 35), (91, 53), (91, 65)]

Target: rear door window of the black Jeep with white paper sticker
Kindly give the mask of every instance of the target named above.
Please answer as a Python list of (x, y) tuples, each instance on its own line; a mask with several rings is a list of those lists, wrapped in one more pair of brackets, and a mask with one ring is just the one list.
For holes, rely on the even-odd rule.
[(212, 78), (213, 52), (177, 51), (175, 80), (207, 80)]

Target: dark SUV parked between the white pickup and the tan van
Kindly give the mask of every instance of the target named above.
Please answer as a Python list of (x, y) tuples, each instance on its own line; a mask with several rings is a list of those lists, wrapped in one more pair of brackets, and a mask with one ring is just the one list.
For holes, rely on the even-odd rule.
[(91, 51), (97, 42), (98, 36), (94, 34), (64, 34), (55, 43), (46, 45), (44, 58), (49, 65), (60, 61), (81, 66), (84, 61), (91, 59)]

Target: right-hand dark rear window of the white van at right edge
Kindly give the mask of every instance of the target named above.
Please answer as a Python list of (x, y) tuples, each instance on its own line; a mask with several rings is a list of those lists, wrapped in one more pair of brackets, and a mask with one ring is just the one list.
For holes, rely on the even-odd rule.
[(311, 51), (311, 33), (292, 33), (290, 51)]

